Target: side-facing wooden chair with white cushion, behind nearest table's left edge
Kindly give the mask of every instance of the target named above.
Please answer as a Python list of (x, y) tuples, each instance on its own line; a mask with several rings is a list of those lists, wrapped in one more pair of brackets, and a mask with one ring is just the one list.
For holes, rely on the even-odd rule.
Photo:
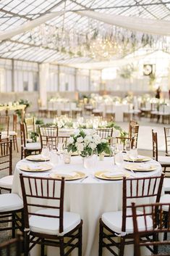
[(20, 134), (21, 134), (21, 159), (27, 157), (30, 154), (40, 154), (41, 144), (38, 142), (27, 143), (25, 123), (20, 122)]

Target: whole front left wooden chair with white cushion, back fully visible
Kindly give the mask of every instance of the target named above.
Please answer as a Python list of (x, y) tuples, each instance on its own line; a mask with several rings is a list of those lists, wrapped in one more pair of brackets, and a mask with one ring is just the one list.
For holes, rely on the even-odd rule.
[[(22, 197), (25, 208), (25, 256), (35, 244), (60, 248), (60, 256), (78, 248), (82, 255), (82, 220), (80, 215), (64, 212), (64, 178), (22, 176)], [(46, 205), (44, 200), (46, 199)]]

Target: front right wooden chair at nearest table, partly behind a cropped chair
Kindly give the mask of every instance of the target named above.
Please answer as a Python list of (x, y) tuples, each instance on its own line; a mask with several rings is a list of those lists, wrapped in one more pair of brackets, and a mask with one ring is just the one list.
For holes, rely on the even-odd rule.
[[(99, 256), (102, 256), (103, 247), (114, 256), (124, 255), (124, 246), (134, 243), (131, 202), (141, 199), (159, 202), (162, 184), (163, 174), (149, 178), (123, 178), (122, 211), (105, 212), (100, 219)], [(117, 236), (119, 241), (115, 241)]]

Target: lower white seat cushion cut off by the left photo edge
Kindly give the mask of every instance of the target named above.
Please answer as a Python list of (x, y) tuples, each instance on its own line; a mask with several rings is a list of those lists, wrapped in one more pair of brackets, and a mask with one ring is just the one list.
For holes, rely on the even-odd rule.
[(17, 194), (0, 194), (0, 212), (20, 210), (23, 208), (23, 201)]

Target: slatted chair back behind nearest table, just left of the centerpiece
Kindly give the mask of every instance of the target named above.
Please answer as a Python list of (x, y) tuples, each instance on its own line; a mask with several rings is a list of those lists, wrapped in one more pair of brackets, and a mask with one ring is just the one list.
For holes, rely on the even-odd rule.
[(43, 146), (50, 146), (56, 149), (58, 127), (57, 126), (39, 126), (40, 137), (41, 137), (41, 149)]

